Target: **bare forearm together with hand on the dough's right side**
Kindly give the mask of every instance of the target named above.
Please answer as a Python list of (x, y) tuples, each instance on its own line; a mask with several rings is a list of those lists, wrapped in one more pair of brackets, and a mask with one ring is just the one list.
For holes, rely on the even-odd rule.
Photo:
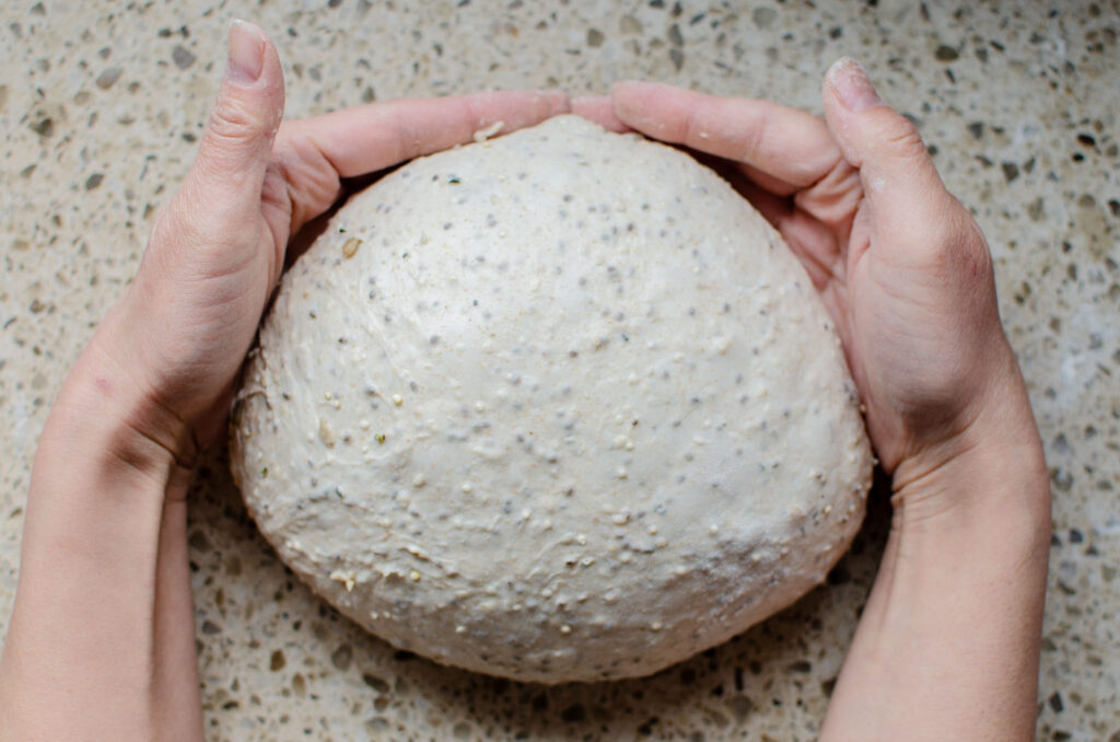
[[(613, 126), (725, 158), (836, 319), (894, 520), (822, 740), (1029, 740), (1049, 486), (987, 242), (851, 61), (825, 119), (623, 83)], [(594, 103), (594, 104), (592, 104)], [(601, 102), (579, 102), (609, 122)]]

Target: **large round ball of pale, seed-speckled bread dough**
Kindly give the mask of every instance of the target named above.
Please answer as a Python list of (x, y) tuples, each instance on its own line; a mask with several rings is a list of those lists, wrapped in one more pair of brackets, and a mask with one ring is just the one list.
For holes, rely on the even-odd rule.
[(338, 211), (261, 330), (232, 464), (344, 614), (559, 683), (654, 673), (821, 583), (871, 453), (769, 224), (688, 155), (560, 117)]

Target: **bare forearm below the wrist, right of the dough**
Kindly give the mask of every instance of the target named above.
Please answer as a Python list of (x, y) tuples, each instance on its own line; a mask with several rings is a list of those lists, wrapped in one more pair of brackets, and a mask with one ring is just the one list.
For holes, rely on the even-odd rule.
[(1029, 425), (896, 488), (823, 740), (1034, 739), (1049, 486)]

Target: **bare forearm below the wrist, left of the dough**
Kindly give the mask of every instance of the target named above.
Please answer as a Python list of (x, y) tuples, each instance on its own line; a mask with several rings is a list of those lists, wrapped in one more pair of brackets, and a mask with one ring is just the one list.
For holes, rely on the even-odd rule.
[(189, 472), (174, 455), (184, 428), (101, 351), (121, 347), (106, 341), (118, 330), (111, 315), (39, 440), (0, 665), (2, 740), (202, 736)]

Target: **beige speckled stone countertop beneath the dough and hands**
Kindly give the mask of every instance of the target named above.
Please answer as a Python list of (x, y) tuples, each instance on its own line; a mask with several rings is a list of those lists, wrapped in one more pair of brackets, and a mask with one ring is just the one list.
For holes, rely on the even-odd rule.
[[(624, 77), (819, 111), (821, 75), (851, 54), (996, 257), (1055, 494), (1039, 739), (1120, 741), (1118, 2), (261, 4), (0, 7), (0, 630), (36, 437), (194, 155), (231, 18), (273, 35), (289, 117)], [(256, 536), (214, 454), (190, 525), (208, 735), (814, 739), (885, 538), (877, 502), (830, 584), (775, 619), (652, 678), (543, 688), (394, 652), (340, 619)]]

